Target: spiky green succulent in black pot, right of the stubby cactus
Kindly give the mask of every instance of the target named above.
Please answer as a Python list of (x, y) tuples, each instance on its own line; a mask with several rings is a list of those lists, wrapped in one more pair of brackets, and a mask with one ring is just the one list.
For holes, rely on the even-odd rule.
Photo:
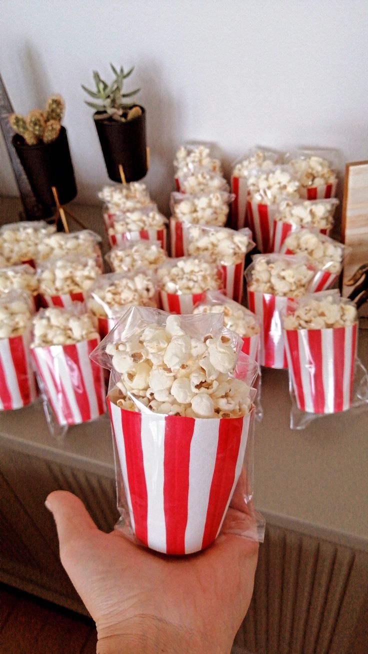
[(120, 182), (123, 171), (126, 182), (135, 182), (142, 179), (148, 169), (146, 111), (137, 103), (127, 102), (128, 98), (139, 92), (139, 88), (123, 93), (124, 80), (133, 73), (134, 67), (124, 73), (123, 67), (118, 71), (112, 63), (110, 66), (114, 73), (110, 84), (95, 71), (95, 90), (83, 84), (82, 89), (93, 98), (93, 102), (86, 101), (86, 105), (95, 109), (93, 120), (109, 178)]

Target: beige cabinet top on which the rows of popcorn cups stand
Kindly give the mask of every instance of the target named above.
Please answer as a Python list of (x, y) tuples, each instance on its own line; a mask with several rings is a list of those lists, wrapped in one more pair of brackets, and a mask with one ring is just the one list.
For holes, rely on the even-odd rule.
[[(14, 201), (1, 203), (3, 220), (15, 219)], [(6, 207), (6, 211), (5, 211)], [(8, 207), (12, 209), (10, 218)], [(98, 207), (74, 207), (92, 229), (101, 230)], [(6, 215), (5, 215), (6, 213)], [(368, 331), (360, 330), (360, 357), (368, 363)], [(368, 407), (318, 419), (290, 430), (288, 373), (264, 370), (264, 417), (256, 422), (256, 506), (276, 524), (368, 547)], [(42, 405), (0, 415), (0, 443), (35, 456), (114, 475), (107, 417), (71, 428), (63, 442), (50, 436)]]

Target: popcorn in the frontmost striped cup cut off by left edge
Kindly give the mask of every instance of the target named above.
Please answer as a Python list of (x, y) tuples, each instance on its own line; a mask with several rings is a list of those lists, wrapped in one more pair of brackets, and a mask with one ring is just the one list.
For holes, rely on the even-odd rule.
[(31, 323), (32, 312), (27, 296), (7, 293), (0, 298), (0, 338), (22, 336)]

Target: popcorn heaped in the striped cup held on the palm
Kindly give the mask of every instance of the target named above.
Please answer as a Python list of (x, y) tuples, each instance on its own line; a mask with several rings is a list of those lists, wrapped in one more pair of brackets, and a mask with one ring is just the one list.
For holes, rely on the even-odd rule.
[(249, 387), (229, 377), (236, 354), (224, 333), (191, 338), (180, 317), (169, 315), (165, 325), (149, 324), (123, 342), (109, 343), (106, 351), (121, 375), (116, 404), (123, 409), (139, 411), (141, 404), (154, 413), (233, 418), (252, 407)]

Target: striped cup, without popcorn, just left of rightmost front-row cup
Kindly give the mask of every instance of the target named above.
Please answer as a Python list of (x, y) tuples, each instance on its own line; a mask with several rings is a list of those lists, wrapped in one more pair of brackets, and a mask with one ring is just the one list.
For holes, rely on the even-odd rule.
[(288, 368), (282, 334), (281, 311), (291, 303), (292, 300), (283, 296), (248, 290), (248, 307), (261, 322), (258, 354), (258, 362), (261, 366)]

